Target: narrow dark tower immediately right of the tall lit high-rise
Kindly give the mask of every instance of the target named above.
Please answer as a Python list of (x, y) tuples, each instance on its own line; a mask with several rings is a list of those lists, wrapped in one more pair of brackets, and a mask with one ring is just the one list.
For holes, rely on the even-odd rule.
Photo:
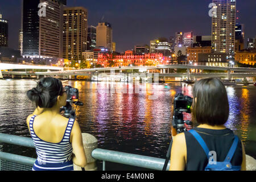
[(236, 23), (235, 27), (235, 52), (244, 49), (245, 44), (245, 31), (244, 25)]

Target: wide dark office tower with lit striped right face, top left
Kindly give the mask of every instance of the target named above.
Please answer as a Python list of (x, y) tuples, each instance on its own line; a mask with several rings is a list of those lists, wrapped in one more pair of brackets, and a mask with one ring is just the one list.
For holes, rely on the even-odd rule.
[(66, 1), (60, 0), (23, 0), (23, 57), (62, 57), (65, 4)]

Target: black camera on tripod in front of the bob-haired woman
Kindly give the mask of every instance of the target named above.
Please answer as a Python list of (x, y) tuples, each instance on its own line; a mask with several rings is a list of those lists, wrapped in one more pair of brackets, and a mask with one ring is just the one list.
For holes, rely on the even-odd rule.
[(187, 131), (185, 124), (191, 126), (191, 121), (184, 121), (183, 112), (191, 113), (193, 98), (179, 93), (174, 98), (174, 114), (172, 117), (172, 126), (177, 134)]

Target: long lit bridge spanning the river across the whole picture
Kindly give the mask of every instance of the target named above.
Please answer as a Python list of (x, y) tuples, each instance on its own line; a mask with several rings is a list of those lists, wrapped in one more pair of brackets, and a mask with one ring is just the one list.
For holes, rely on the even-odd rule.
[[(1, 67), (3, 66), (3, 67)], [(5, 66), (5, 67), (4, 67)], [(16, 66), (16, 67), (15, 67)], [(187, 77), (187, 79), (191, 78), (204, 78), (204, 77), (228, 77), (229, 80), (232, 78), (245, 78), (245, 77), (256, 77), (256, 69), (255, 68), (236, 68), (236, 67), (209, 67), (202, 65), (158, 65), (156, 67), (109, 67), (109, 68), (91, 68), (91, 69), (76, 69), (71, 71), (64, 71), (63, 67), (51, 67), (51, 66), (42, 66), (42, 65), (20, 65), (20, 64), (0, 64), (1, 69), (47, 69), (47, 72), (15, 72), (15, 71), (2, 71), (3, 76), (11, 76), (14, 78), (15, 75), (23, 77), (28, 76), (36, 76), (39, 78), (40, 76), (59, 76), (60, 78), (70, 78), (72, 76), (86, 76), (88, 78), (92, 78), (93, 76), (97, 77), (109, 77), (113, 75), (118, 75), (122, 73), (122, 70), (135, 70), (142, 69), (142, 71), (146, 75), (148, 73), (155, 74), (157, 73), (160, 78), (163, 80), (166, 77)], [(15, 67), (15, 68), (14, 68)], [(187, 73), (169, 73), (170, 69), (180, 68), (187, 69)], [(58, 70), (58, 71), (49, 71), (49, 70)], [(226, 71), (226, 73), (191, 73), (190, 69), (202, 69), (202, 70), (215, 70), (215, 71)], [(105, 72), (110, 71), (110, 73)], [(113, 72), (114, 71), (114, 72)], [(119, 71), (119, 73), (115, 73), (115, 71)], [(159, 73), (160, 71), (160, 73)], [(232, 73), (234, 71), (234, 73)], [(126, 75), (126, 77), (130, 73), (122, 73), (122, 75)], [(131, 76), (131, 75), (129, 75)], [(1, 77), (1, 72), (0, 72)]]

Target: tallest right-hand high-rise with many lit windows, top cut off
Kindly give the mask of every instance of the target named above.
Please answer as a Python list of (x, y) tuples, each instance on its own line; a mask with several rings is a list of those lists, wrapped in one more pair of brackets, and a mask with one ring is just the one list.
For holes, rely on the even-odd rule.
[(213, 0), (212, 49), (230, 55), (235, 49), (236, 0)]

